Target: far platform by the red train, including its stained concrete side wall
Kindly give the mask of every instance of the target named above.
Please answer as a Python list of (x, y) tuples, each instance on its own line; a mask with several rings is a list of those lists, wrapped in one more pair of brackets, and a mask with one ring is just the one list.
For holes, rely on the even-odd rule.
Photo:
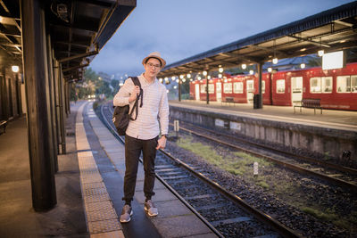
[[(170, 118), (357, 165), (357, 111), (314, 114), (313, 109), (303, 108), (302, 113), (294, 113), (293, 107), (253, 109), (252, 104), (243, 103), (170, 101)], [(349, 158), (342, 156), (345, 152)]]

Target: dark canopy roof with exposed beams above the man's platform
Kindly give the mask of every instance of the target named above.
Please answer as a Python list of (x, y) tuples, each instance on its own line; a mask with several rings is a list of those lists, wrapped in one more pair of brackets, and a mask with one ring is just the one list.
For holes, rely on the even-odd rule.
[[(26, 0), (22, 0), (26, 1)], [(91, 62), (137, 5), (136, 0), (47, 0), (46, 23), (54, 57), (67, 80), (80, 80)], [(22, 63), (20, 1), (0, 0), (0, 64)]]

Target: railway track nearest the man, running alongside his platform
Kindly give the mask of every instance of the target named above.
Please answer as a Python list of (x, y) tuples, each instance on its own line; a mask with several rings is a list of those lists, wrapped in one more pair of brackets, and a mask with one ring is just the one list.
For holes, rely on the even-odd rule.
[[(101, 106), (99, 118), (124, 143), (112, 125), (111, 104)], [(184, 163), (162, 150), (158, 152), (155, 163), (157, 178), (220, 237), (300, 237), (204, 176), (200, 168)]]

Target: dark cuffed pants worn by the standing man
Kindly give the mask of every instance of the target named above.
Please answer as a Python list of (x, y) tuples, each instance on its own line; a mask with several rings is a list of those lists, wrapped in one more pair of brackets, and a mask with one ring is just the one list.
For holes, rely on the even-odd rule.
[(143, 152), (143, 163), (145, 171), (144, 194), (151, 199), (154, 196), (155, 181), (155, 157), (157, 139), (140, 140), (125, 135), (125, 176), (124, 176), (124, 201), (132, 201), (137, 183), (137, 166), (140, 153)]

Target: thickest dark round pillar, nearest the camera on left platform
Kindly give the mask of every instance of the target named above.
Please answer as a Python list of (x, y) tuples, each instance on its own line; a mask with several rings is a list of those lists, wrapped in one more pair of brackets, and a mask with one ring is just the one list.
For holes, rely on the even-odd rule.
[(43, 1), (21, 1), (23, 67), (28, 106), (29, 164), (32, 205), (36, 211), (53, 209), (56, 201), (52, 123), (46, 70)]

